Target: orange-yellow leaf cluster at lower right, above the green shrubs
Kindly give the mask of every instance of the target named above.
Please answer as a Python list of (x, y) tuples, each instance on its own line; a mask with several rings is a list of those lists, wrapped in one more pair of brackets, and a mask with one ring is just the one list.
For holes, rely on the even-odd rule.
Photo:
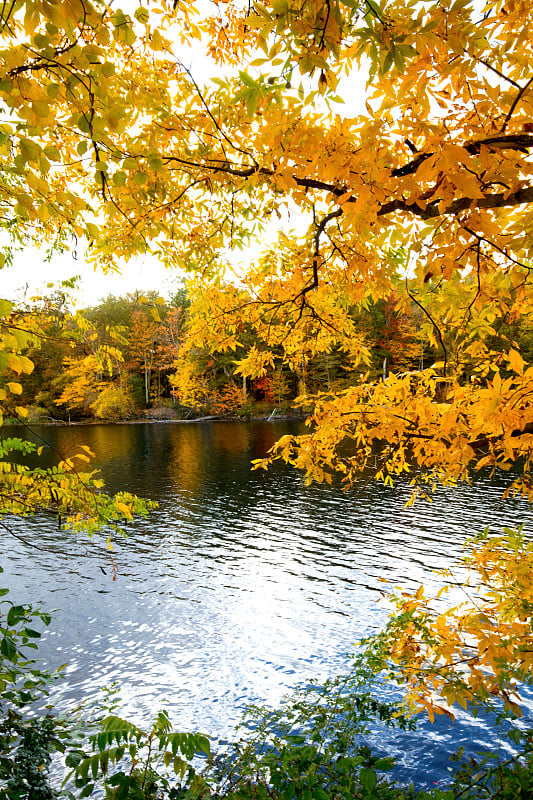
[[(396, 611), (385, 631), (371, 644), (378, 669), (388, 671), (406, 689), (406, 703), (435, 714), (447, 714), (455, 703), (489, 704), (493, 699), (520, 716), (518, 681), (532, 682), (533, 547), (521, 531), (502, 536), (487, 532), (471, 543), (461, 567), (466, 580), (456, 585), (462, 602), (443, 608), (420, 588), (396, 597)], [(461, 588), (462, 587), (462, 588)], [(523, 620), (523, 621), (521, 621)]]

